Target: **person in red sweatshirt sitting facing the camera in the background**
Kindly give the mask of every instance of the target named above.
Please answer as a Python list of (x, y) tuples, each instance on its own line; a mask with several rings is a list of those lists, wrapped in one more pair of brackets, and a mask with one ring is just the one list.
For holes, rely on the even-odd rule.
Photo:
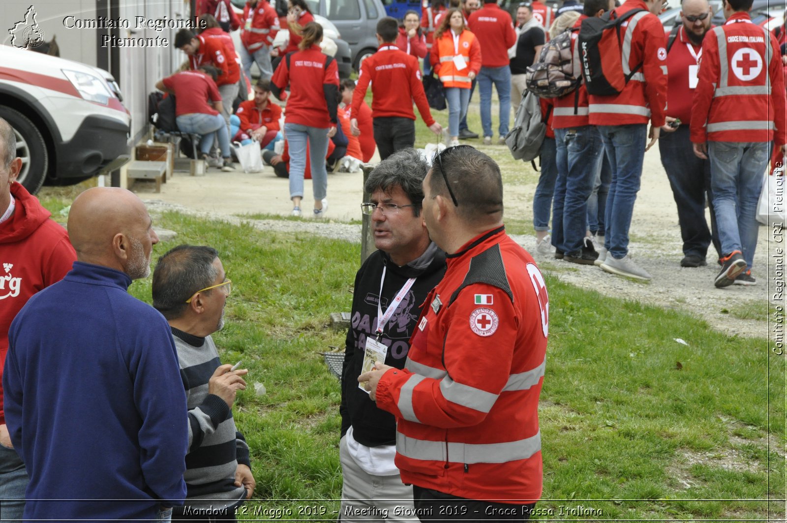
[[(260, 79), (254, 85), (254, 99), (241, 102), (233, 117), (238, 119), (238, 133), (233, 140), (255, 139), (263, 149), (273, 150), (283, 139), (279, 128), (282, 108), (271, 102), (271, 80)], [(231, 117), (230, 124), (234, 121)]]

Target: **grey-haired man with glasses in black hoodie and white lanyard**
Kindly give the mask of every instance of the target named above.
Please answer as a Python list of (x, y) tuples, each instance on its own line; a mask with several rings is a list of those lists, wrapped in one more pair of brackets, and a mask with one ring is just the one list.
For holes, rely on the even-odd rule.
[(420, 305), (445, 273), (445, 253), (429, 239), (421, 216), (421, 183), (428, 170), (415, 149), (397, 150), (379, 163), (365, 185), (371, 198), (361, 209), (371, 214), (379, 250), (355, 277), (352, 324), (345, 343), (339, 407), (342, 521), (418, 521), (412, 486), (401, 483), (393, 464), (396, 421), (377, 408), (357, 378), (369, 370), (365, 367), (370, 362), (405, 366)]

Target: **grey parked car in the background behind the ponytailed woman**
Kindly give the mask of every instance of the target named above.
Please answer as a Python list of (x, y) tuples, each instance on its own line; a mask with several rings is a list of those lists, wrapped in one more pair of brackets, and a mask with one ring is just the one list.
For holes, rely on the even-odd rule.
[(386, 17), (380, 0), (306, 0), (312, 13), (334, 23), (342, 38), (349, 43), (353, 69), (377, 50), (377, 22)]

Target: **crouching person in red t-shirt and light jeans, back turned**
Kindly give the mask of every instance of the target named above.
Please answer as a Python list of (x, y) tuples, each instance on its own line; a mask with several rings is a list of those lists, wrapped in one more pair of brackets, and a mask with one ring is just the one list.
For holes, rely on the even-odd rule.
[[(209, 160), (210, 148), (215, 135), (219, 137), (219, 148), (224, 158), (222, 171), (233, 171), (230, 137), (224, 118), (221, 117), (222, 101), (216, 87), (216, 68), (201, 65), (196, 71), (176, 72), (159, 80), (156, 88), (175, 95), (175, 114), (181, 132), (201, 135), (199, 147), (202, 158)], [(212, 102), (212, 107), (208, 102)]]

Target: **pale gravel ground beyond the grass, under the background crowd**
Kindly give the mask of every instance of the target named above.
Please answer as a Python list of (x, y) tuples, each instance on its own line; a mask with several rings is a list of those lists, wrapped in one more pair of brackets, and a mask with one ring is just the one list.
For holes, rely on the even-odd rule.
[[(468, 143), (477, 145), (475, 142)], [(484, 149), (483, 146), (478, 147)], [(487, 149), (500, 152), (504, 146), (490, 146)], [(519, 165), (529, 169), (524, 164)], [(327, 223), (316, 223), (309, 217), (301, 221), (250, 220), (243, 217), (249, 213), (289, 216), (292, 206), (288, 198), (288, 180), (277, 178), (270, 167), (258, 173), (209, 169), (205, 176), (176, 172), (162, 185), (160, 194), (153, 192), (153, 184), (144, 182), (138, 182), (134, 190), (155, 209), (176, 207), (220, 220), (252, 221), (263, 229), (313, 230), (316, 234), (356, 238), (360, 242), (360, 227), (340, 222), (360, 220), (362, 181), (361, 172), (329, 174), (329, 210), (327, 220), (324, 221)], [(506, 216), (532, 219), (534, 190), (534, 184), (508, 184), (504, 187)], [(306, 180), (302, 206), (305, 216), (311, 214), (311, 194), (311, 183)], [(775, 249), (781, 247), (781, 243), (776, 241), (779, 238), (769, 228), (760, 227), (755, 269), (752, 271), (758, 282), (753, 287), (733, 285), (715, 288), (713, 279), (719, 269), (711, 252), (708, 253), (708, 267), (681, 268), (682, 242), (678, 214), (657, 147), (645, 154), (641, 190), (634, 207), (630, 236), (630, 253), (638, 264), (652, 274), (650, 282), (641, 283), (613, 276), (595, 266), (575, 265), (552, 258), (537, 257), (537, 260), (542, 269), (559, 276), (561, 280), (599, 291), (602, 295), (685, 310), (730, 335), (768, 336), (773, 327), (768, 321), (768, 303), (774, 291), (774, 286), (769, 286), (768, 282), (775, 271), (780, 269), (773, 258)], [(516, 236), (516, 239), (527, 250), (534, 252), (534, 236)], [(778, 305), (784, 306), (785, 303), (782, 300)]]

